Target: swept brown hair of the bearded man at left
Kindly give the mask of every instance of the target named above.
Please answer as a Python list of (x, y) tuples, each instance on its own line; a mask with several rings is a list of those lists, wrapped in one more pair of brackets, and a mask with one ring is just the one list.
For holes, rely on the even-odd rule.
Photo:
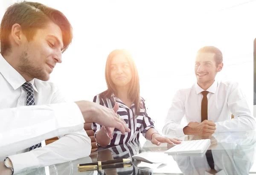
[(9, 34), (12, 25), (19, 24), (28, 41), (35, 36), (36, 30), (44, 28), (52, 21), (61, 28), (63, 38), (62, 53), (67, 50), (73, 39), (73, 29), (70, 22), (61, 11), (50, 8), (41, 3), (23, 1), (9, 6), (3, 15), (0, 25), (0, 51), (6, 54), (11, 51)]

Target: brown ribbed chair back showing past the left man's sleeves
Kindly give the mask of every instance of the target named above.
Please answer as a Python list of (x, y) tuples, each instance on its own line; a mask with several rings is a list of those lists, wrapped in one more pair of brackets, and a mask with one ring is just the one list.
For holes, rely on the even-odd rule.
[[(98, 146), (96, 145), (96, 140), (94, 138), (94, 131), (92, 130), (92, 121), (89, 120), (85, 120), (84, 123), (84, 130), (86, 131), (87, 135), (90, 137), (91, 139), (91, 144), (92, 144), (92, 150), (91, 152), (94, 152), (98, 149)], [(58, 140), (58, 137), (54, 137), (54, 138), (49, 138), (47, 140), (45, 140), (45, 144), (51, 144), (52, 142)]]

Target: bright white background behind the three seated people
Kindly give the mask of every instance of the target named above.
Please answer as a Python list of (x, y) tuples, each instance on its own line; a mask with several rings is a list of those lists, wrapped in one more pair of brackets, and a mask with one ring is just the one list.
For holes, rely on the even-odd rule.
[[(0, 17), (13, 2), (0, 1)], [(141, 96), (161, 131), (174, 93), (196, 81), (196, 51), (214, 45), (224, 56), (217, 79), (239, 82), (253, 110), (255, 0), (37, 2), (62, 11), (73, 25), (73, 42), (50, 79), (68, 101), (91, 101), (106, 90), (106, 58), (125, 48), (134, 56)]]

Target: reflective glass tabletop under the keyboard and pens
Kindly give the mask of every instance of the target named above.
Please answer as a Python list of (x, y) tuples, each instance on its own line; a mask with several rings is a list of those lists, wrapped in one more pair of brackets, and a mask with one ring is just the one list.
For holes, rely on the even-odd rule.
[[(197, 140), (205, 137), (185, 135), (183, 140)], [(211, 137), (211, 150), (213, 167), (209, 165), (207, 154), (174, 154), (164, 152), (172, 147), (169, 144), (156, 146), (140, 138), (116, 147), (99, 148), (96, 152), (85, 158), (63, 164), (51, 165), (19, 175), (256, 175), (255, 147), (256, 131), (228, 132), (213, 134)], [(141, 152), (154, 152), (154, 156), (162, 159), (160, 164), (150, 164), (137, 161), (133, 155)], [(209, 152), (209, 151), (207, 151)], [(130, 158), (127, 167), (92, 170), (79, 172), (78, 164), (96, 161), (108, 161), (120, 158)], [(208, 160), (207, 160), (208, 159)]]

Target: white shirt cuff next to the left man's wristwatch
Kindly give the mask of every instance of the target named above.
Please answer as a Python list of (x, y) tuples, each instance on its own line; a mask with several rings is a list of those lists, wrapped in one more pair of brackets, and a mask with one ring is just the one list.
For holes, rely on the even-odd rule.
[(13, 174), (29, 171), (39, 168), (39, 161), (33, 152), (24, 152), (21, 154), (8, 156), (12, 161)]

